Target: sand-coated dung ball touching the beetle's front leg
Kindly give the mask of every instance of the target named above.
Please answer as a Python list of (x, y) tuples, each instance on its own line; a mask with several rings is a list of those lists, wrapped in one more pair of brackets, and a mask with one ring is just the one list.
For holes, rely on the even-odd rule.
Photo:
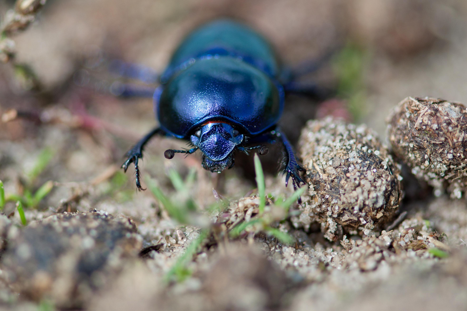
[(374, 131), (327, 117), (308, 121), (299, 145), (310, 198), (295, 225), (318, 221), (325, 237), (336, 241), (342, 233), (368, 235), (393, 220), (402, 178)]

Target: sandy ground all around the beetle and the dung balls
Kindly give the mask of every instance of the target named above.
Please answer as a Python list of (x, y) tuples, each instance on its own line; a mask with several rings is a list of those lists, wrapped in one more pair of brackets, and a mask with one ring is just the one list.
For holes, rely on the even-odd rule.
[[(296, 242), (281, 243), (266, 227), (232, 237), (228, 230), (258, 214), (253, 157), (212, 175), (199, 155), (163, 157), (184, 142), (155, 138), (143, 182), (150, 177), (170, 200), (196, 203), (199, 211), (180, 225), (149, 190), (135, 190), (132, 168), (119, 169), (126, 150), (156, 125), (151, 100), (107, 94), (118, 78), (93, 67), (105, 53), (160, 72), (190, 29), (220, 16), (256, 28), (290, 65), (352, 42), (363, 51), (354, 122), (385, 142), (384, 119), (407, 96), (467, 103), (464, 2), (49, 0), (28, 29), (11, 36), (14, 63), (30, 66), (36, 82), (12, 62), (0, 67), (0, 113), (28, 112), (0, 123), (5, 192), (24, 196), (49, 180), (54, 185), (25, 207), (27, 227), (13, 201), (0, 216), (0, 310), (465, 310), (465, 194), (435, 197), (403, 172), (403, 217), (384, 228), (330, 242), (319, 223), (294, 225), (268, 201), (268, 226)], [(2, 3), (2, 14), (10, 7)], [(92, 79), (80, 86), (83, 68)], [(332, 64), (303, 79), (336, 86)], [(281, 125), (297, 142), (322, 105), (299, 96), (287, 103)], [(51, 159), (35, 175), (44, 154)], [(292, 193), (277, 176), (279, 155), (271, 148), (261, 158), (273, 198)], [(187, 193), (172, 186), (171, 169), (182, 178), (195, 173)], [(223, 211), (210, 208), (213, 188), (230, 201)], [(295, 216), (300, 211), (291, 208)], [(178, 271), (184, 280), (167, 281), (206, 226), (208, 238)]]

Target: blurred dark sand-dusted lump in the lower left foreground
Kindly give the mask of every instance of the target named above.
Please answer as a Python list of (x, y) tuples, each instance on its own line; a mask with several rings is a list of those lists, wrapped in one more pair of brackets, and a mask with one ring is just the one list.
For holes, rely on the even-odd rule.
[(96, 210), (55, 214), (11, 231), (1, 257), (8, 283), (24, 297), (51, 298), (62, 308), (82, 307), (142, 245), (130, 219)]

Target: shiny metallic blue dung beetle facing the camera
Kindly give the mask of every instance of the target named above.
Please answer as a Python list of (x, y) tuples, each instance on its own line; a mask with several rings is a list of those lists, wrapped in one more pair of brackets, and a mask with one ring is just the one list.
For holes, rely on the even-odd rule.
[[(120, 64), (121, 72), (134, 71), (125, 66)], [(314, 86), (297, 86), (296, 76), (281, 69), (268, 41), (239, 22), (218, 20), (195, 29), (158, 77), (160, 86), (152, 97), (159, 127), (127, 152), (122, 168), (126, 172), (134, 163), (136, 187), (142, 190), (138, 159), (156, 134), (192, 145), (187, 150), (166, 150), (165, 158), (199, 149), (202, 166), (218, 173), (234, 165), (235, 150), (257, 149), (262, 155), (268, 152), (262, 144), (279, 141), (285, 151), (285, 186), (291, 177), (293, 187), (300, 187), (304, 180), (299, 171), (304, 168), (277, 126), (286, 91), (316, 93)], [(120, 94), (132, 94), (130, 88), (121, 88)]]

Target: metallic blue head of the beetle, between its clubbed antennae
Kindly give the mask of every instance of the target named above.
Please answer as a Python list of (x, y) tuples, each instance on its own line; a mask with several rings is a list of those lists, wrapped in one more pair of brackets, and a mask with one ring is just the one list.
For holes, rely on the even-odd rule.
[(220, 172), (233, 166), (233, 149), (241, 144), (243, 134), (226, 123), (208, 123), (191, 135), (193, 145), (203, 152), (203, 167)]

